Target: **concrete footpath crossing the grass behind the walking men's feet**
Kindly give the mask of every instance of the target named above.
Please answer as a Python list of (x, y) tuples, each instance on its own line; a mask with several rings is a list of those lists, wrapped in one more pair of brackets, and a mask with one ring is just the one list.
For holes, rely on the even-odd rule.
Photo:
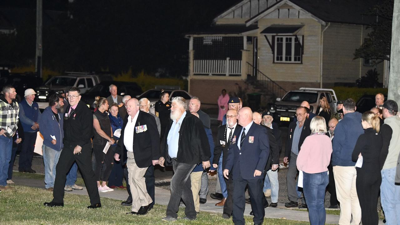
[[(42, 180), (37, 180), (37, 179), (26, 179), (26, 178), (21, 178), (21, 177), (14, 177), (13, 181), (15, 182), (16, 185), (25, 185), (25, 186), (30, 186), (30, 187), (37, 187), (37, 188), (44, 188), (44, 183)], [(67, 194), (76, 194), (76, 195), (88, 195), (86, 188), (84, 188), (82, 191), (72, 191), (72, 192), (66, 192)], [(126, 198), (128, 197), (128, 193), (126, 190), (116, 190), (111, 192), (105, 192), (105, 193), (100, 193), (100, 197), (106, 197), (110, 199), (116, 199), (120, 201), (125, 201)], [(156, 187), (156, 193), (155, 193), (155, 201), (156, 204), (160, 205), (168, 205), (168, 201), (170, 199), (170, 191), (166, 189), (162, 189), (159, 187)], [(200, 210), (202, 211), (207, 211), (210, 213), (221, 213), (223, 211), (223, 207), (217, 207), (215, 206), (216, 203), (219, 201), (214, 200), (214, 199), (207, 199), (207, 203), (205, 204), (200, 204)], [(66, 203), (68, 204), (68, 203)], [(283, 203), (278, 203), (279, 207), (284, 207)], [(184, 207), (183, 204), (181, 204), (181, 207)], [(126, 207), (126, 211), (130, 211), (130, 207)], [(246, 204), (246, 209), (244, 211), (244, 215), (249, 215), (251, 211), (250, 204)], [(296, 220), (296, 221), (307, 221), (308, 222), (308, 212), (307, 211), (298, 211), (298, 210), (290, 210), (290, 209), (280, 209), (280, 208), (266, 208), (265, 209), (265, 217), (266, 218), (274, 218), (274, 219), (288, 219), (288, 220)], [(326, 223), (329, 224), (338, 224), (339, 222), (339, 216), (337, 215), (326, 215)], [(379, 224), (384, 224), (382, 221), (380, 221)]]

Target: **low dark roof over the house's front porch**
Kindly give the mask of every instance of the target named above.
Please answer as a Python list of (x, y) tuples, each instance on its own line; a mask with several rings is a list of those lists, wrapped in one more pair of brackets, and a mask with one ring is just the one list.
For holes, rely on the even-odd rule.
[(203, 30), (194, 30), (192, 32), (188, 32), (189, 34), (241, 34), (244, 32), (248, 32), (251, 30), (257, 30), (258, 26), (256, 24), (252, 24), (250, 26), (246, 26), (245, 24), (239, 25), (213, 25), (209, 28)]

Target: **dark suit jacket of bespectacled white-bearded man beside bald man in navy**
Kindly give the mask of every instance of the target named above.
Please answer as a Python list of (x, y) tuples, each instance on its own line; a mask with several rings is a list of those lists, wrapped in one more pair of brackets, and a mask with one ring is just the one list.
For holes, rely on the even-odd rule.
[[(222, 125), (218, 128), (218, 133), (217, 133), (217, 138), (216, 138), (216, 142), (215, 142), (215, 148), (214, 148), (214, 159), (212, 161), (212, 164), (217, 164), (220, 160), (221, 157), (221, 153), (222, 153), (222, 168), (224, 168), (225, 162), (226, 162), (226, 158), (228, 157), (228, 147), (230, 145), (231, 140), (226, 140), (226, 133), (228, 132), (229, 135), (229, 131), (227, 131), (226, 127), (228, 125)], [(235, 131), (236, 130), (242, 130), (242, 126), (240, 125), (236, 125)], [(232, 134), (233, 137), (233, 134)], [(221, 145), (221, 141), (225, 142), (225, 145)]]

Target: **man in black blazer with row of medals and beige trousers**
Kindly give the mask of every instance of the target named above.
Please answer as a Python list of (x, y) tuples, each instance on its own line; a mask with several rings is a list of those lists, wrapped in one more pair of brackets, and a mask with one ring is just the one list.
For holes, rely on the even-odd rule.
[(147, 192), (144, 174), (150, 165), (158, 164), (160, 136), (156, 120), (152, 115), (139, 110), (139, 101), (136, 98), (126, 102), (126, 111), (128, 117), (124, 119), (118, 141), (119, 154), (114, 155), (114, 158), (116, 161), (124, 159), (127, 151), (128, 183), (132, 193), (132, 211), (127, 214), (145, 215), (153, 200)]

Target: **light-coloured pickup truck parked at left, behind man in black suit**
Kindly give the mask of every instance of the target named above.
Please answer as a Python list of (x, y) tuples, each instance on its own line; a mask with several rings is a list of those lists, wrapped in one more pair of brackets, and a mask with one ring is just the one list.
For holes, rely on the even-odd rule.
[(96, 75), (82, 72), (66, 72), (66, 75), (54, 76), (44, 85), (36, 88), (36, 102), (47, 102), (51, 94), (67, 92), (71, 87), (78, 87), (84, 94), (102, 80), (112, 80), (111, 75)]

